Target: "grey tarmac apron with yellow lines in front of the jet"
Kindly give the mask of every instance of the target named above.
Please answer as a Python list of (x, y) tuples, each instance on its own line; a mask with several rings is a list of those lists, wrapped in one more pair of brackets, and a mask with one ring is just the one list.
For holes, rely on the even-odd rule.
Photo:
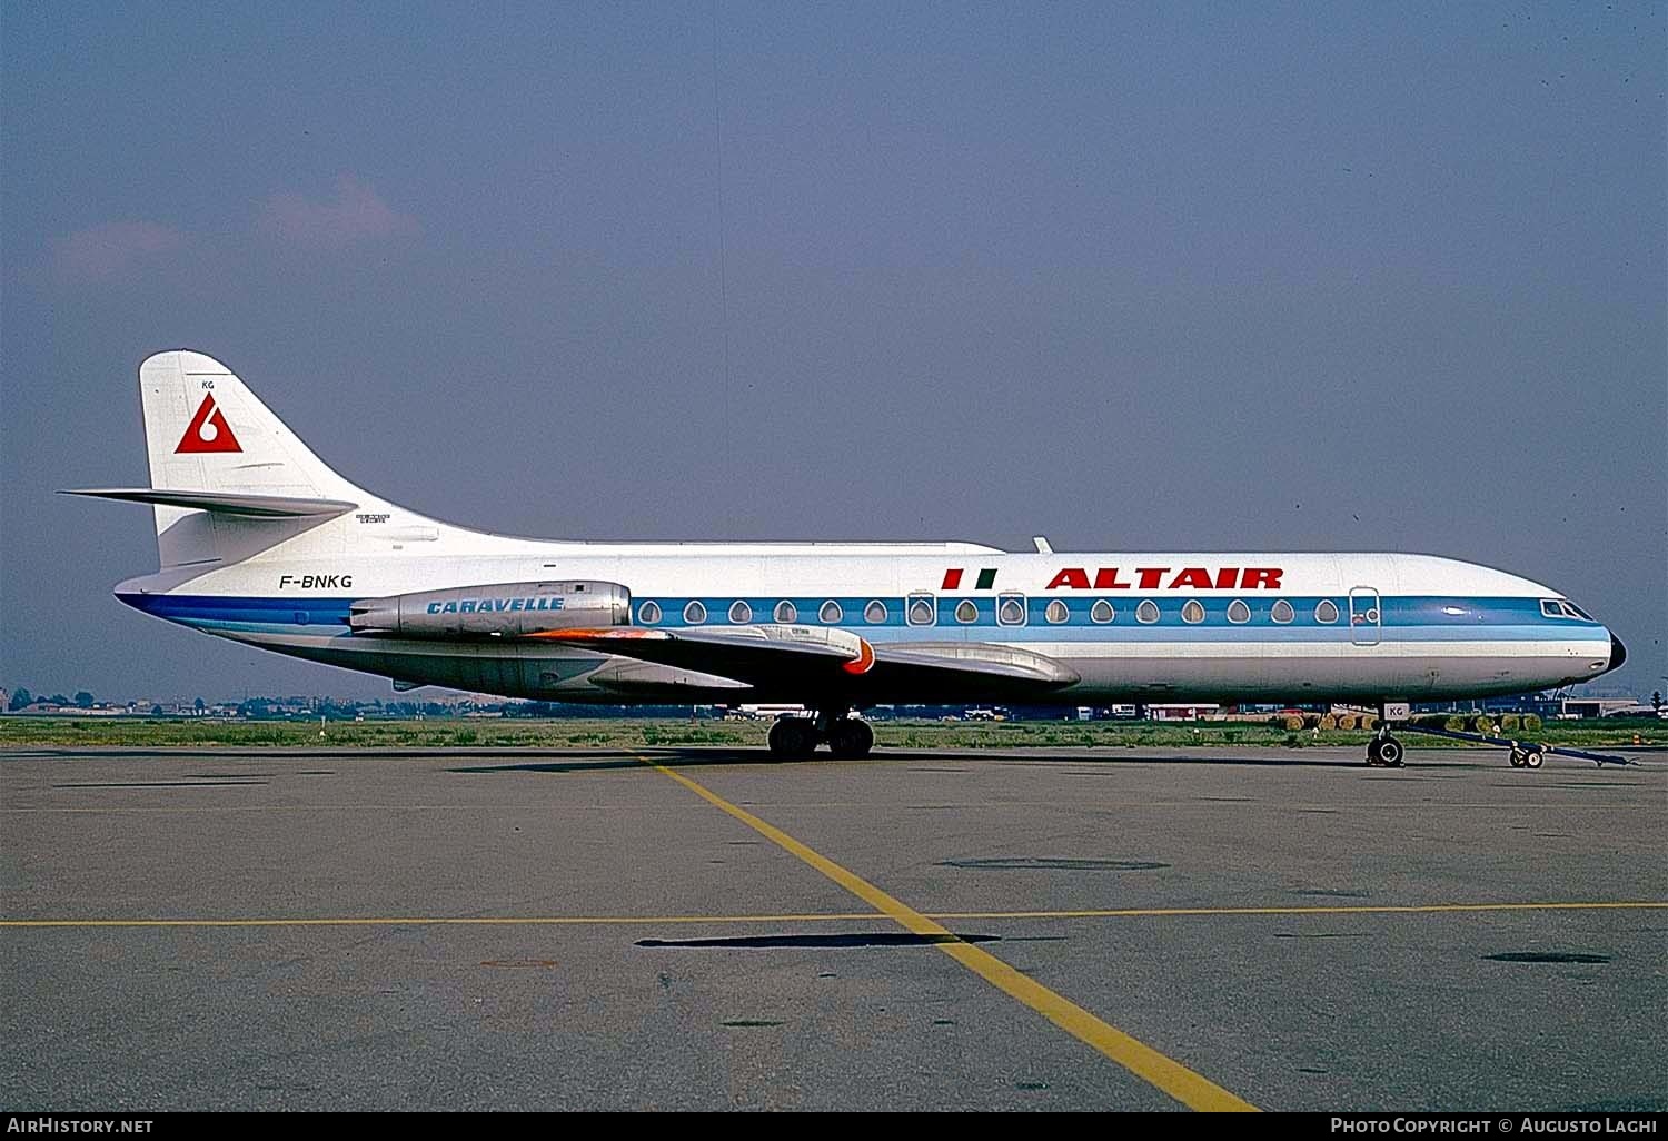
[(15, 749), (0, 1104), (1668, 1109), (1636, 757)]

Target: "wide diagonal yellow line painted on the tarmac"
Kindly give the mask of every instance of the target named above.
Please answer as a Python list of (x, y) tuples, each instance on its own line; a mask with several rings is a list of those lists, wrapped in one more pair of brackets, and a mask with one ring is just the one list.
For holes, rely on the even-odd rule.
[(1256, 1106), (1249, 1101), (1228, 1093), (1211, 1079), (1193, 1073), (1176, 1059), (1158, 1053), (1146, 1043), (1131, 1038), (1121, 1029), (1108, 1026), (1089, 1011), (1066, 998), (1061, 998), (1036, 979), (1021, 974), (994, 954), (981, 951), (971, 942), (962, 942), (942, 924), (934, 922), (919, 911), (894, 899), (892, 896), (887, 896), (861, 876), (846, 871), (826, 856), (806, 847), (774, 824), (767, 824), (752, 812), (736, 807), (717, 792), (691, 781), (682, 772), (667, 769), (666, 766), (656, 764), (647, 757), (639, 759), (656, 772), (677, 781), (707, 804), (727, 812), (752, 831), (759, 832), (777, 847), (797, 856), (802, 862), (817, 869), (836, 884), (862, 899), (866, 904), (882, 911), (912, 934), (936, 937), (947, 936), (946, 942), (934, 942), (932, 946), (961, 963), (986, 983), (991, 983), (1007, 996), (1019, 999), (1036, 1013), (1042, 1014), (1078, 1041), (1098, 1049), (1101, 1054), (1118, 1063), (1134, 1076), (1148, 1081), (1158, 1089), (1163, 1089), (1189, 1109), (1256, 1111)]

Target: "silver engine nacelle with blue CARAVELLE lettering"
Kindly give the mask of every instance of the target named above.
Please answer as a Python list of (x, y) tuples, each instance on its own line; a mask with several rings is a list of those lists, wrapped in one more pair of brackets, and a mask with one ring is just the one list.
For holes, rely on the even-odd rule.
[(631, 591), (619, 582), (500, 582), (362, 599), (354, 634), (514, 637), (540, 631), (631, 626)]

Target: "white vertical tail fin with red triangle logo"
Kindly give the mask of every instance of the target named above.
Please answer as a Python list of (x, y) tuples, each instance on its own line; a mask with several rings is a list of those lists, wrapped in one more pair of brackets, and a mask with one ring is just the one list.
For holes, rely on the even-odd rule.
[[(158, 352), (138, 365), (145, 407), (145, 447), (150, 485), (183, 490), (220, 512), (193, 510), (185, 502), (153, 502), (157, 547), (163, 567), (247, 557), (294, 537), (319, 519), (255, 520), (232, 517), (225, 504), (257, 500), (339, 500), (342, 510), (382, 500), (355, 487), (320, 460), (267, 410), (237, 375), (200, 352)], [(219, 517), (217, 517), (219, 514)]]

